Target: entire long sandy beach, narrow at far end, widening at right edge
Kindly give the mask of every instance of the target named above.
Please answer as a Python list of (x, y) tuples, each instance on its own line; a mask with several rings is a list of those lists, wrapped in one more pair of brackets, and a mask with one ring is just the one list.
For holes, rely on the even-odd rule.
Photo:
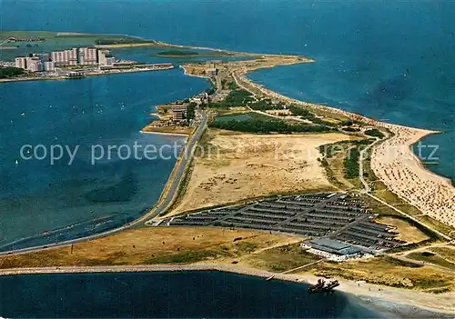
[(248, 79), (246, 75), (249, 71), (242, 70), (234, 77), (238, 85), (245, 89), (254, 87), (262, 94), (284, 102), (319, 111), (328, 111), (388, 129), (392, 135), (373, 148), (371, 156), (373, 172), (391, 192), (419, 208), (423, 214), (428, 214), (441, 223), (455, 227), (455, 187), (448, 178), (434, 174), (426, 168), (411, 149), (412, 145), (423, 137), (440, 132), (379, 122), (334, 107), (315, 105), (280, 95)]

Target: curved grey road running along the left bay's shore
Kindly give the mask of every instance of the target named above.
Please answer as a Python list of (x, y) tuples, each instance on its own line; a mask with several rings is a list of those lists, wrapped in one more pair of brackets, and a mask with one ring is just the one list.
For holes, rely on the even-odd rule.
[[(90, 236), (67, 240), (65, 242), (59, 242), (59, 243), (54, 243), (54, 244), (45, 244), (45, 245), (41, 244), (39, 246), (26, 247), (26, 248), (22, 248), (22, 249), (0, 252), (0, 256), (6, 255), (6, 254), (24, 254), (24, 253), (35, 252), (38, 250), (64, 246), (64, 245), (68, 245), (68, 244), (86, 242), (88, 240), (104, 237), (108, 234), (116, 234), (116, 233), (119, 233), (126, 229), (137, 227), (137, 226), (143, 224), (144, 222), (146, 222), (147, 220), (156, 217), (158, 214), (164, 213), (167, 210), (167, 207), (169, 206), (169, 204), (172, 203), (172, 201), (174, 200), (174, 197), (177, 194), (178, 186), (180, 185), (180, 183), (182, 182), (182, 180), (184, 178), (184, 173), (185, 173), (185, 169), (187, 168), (187, 164), (189, 164), (191, 162), (191, 158), (193, 157), (195, 147), (197, 145), (197, 141), (202, 136), (202, 134), (204, 133), (204, 131), (207, 127), (207, 120), (208, 120), (208, 116), (204, 115), (202, 122), (200, 123), (199, 126), (197, 126), (196, 132), (189, 137), (189, 140), (187, 141), (187, 145), (183, 151), (183, 154), (180, 156), (180, 160), (177, 161), (178, 166), (175, 168), (175, 169), (177, 169), (177, 172), (173, 171), (171, 173), (171, 176), (169, 177), (169, 180), (167, 181), (167, 184), (165, 186), (164, 192), (166, 192), (166, 190), (167, 190), (167, 193), (165, 194), (164, 197), (161, 198), (161, 201), (157, 204), (157, 206), (155, 206), (149, 213), (136, 219), (136, 221), (134, 221), (132, 223), (125, 224), (119, 228), (112, 229), (112, 230), (106, 231), (104, 233), (92, 234)], [(171, 183), (170, 187), (167, 187), (167, 185), (169, 183)]]

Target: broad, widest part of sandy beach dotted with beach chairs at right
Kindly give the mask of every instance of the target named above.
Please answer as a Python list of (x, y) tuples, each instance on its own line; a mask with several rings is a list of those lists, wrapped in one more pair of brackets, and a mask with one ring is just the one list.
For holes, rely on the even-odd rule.
[(435, 132), (385, 125), (394, 135), (373, 149), (371, 167), (381, 181), (423, 214), (455, 227), (455, 187), (430, 172), (410, 146)]

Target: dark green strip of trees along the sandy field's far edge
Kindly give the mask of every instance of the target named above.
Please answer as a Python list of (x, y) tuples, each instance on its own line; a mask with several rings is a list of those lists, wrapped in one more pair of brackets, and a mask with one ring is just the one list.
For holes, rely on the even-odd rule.
[(263, 121), (259, 119), (252, 119), (248, 121), (215, 121), (210, 127), (220, 128), (230, 131), (248, 132), (248, 133), (323, 133), (332, 132), (332, 127), (320, 126), (320, 125), (290, 125), (284, 121)]

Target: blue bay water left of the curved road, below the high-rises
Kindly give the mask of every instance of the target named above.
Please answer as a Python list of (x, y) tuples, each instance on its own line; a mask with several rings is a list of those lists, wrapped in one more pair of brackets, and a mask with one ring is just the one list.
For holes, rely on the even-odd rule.
[[(140, 130), (153, 120), (155, 105), (207, 87), (181, 69), (0, 85), (0, 250), (99, 233), (145, 214), (167, 183), (185, 138)], [(142, 146), (136, 158), (135, 143)], [(25, 157), (23, 145), (29, 145)], [(46, 149), (43, 160), (34, 156), (45, 155), (38, 145)], [(55, 163), (49, 158), (52, 145), (65, 149)], [(131, 150), (127, 159), (126, 148), (120, 155), (108, 152), (120, 145)], [(146, 145), (156, 147), (157, 159), (140, 153)], [(71, 152), (78, 147), (73, 162), (66, 147)], [(101, 148), (105, 155), (93, 161)], [(43, 240), (45, 232), (52, 236)]]

